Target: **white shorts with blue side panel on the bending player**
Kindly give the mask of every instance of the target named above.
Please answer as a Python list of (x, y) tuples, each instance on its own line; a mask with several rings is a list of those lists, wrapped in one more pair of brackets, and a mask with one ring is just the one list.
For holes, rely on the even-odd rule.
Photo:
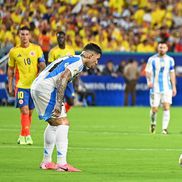
[[(39, 119), (47, 121), (54, 110), (56, 103), (56, 91), (54, 90), (52, 93), (43, 93), (31, 90), (31, 96), (35, 104), (35, 109), (38, 112)], [(67, 116), (64, 103), (62, 105), (60, 118)]]

